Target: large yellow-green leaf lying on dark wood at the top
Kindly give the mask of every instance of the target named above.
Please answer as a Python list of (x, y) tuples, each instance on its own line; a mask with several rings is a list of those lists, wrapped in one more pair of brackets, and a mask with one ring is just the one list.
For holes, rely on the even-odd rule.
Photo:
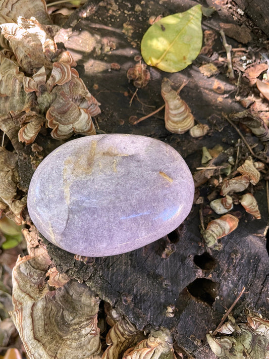
[(202, 47), (201, 19), (201, 5), (196, 5), (151, 25), (141, 41), (146, 64), (166, 72), (181, 71), (190, 65)]

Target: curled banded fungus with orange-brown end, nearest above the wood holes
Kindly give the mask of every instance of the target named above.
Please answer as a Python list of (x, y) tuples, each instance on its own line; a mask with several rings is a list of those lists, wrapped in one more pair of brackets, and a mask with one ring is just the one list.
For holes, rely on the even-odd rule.
[(208, 247), (213, 249), (221, 249), (218, 239), (227, 236), (238, 226), (238, 218), (227, 214), (208, 223), (203, 233), (203, 239)]

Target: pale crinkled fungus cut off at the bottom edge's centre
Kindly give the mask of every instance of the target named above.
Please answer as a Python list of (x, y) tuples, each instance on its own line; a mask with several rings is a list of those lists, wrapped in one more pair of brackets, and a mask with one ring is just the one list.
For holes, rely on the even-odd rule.
[(151, 330), (148, 339), (142, 340), (134, 348), (128, 349), (123, 359), (176, 359), (173, 338), (166, 328)]

